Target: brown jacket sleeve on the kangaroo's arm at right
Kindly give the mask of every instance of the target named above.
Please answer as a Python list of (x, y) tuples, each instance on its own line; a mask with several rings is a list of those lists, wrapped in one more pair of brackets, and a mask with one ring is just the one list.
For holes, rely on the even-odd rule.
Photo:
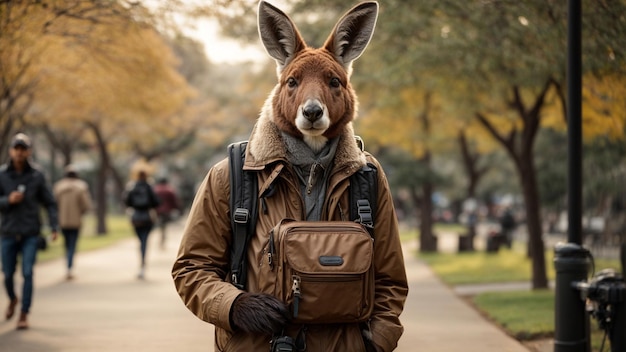
[(375, 305), (370, 319), (372, 340), (383, 351), (392, 351), (404, 331), (400, 314), (408, 295), (408, 282), (398, 231), (398, 221), (387, 177), (378, 168), (378, 206), (374, 225), (374, 261), (376, 266)]

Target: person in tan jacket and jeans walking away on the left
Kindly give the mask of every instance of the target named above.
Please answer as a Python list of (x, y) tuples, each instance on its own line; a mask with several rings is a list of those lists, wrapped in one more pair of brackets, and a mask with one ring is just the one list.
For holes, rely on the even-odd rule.
[(54, 184), (53, 194), (59, 207), (59, 225), (65, 244), (67, 280), (74, 279), (72, 268), (78, 244), (82, 217), (91, 209), (91, 196), (87, 182), (78, 177), (72, 165), (65, 167), (65, 177)]

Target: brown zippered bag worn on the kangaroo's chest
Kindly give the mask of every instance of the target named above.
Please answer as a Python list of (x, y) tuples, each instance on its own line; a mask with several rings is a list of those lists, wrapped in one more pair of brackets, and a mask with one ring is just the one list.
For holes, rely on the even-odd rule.
[(296, 323), (365, 321), (373, 309), (372, 238), (353, 222), (281, 229), (284, 301)]

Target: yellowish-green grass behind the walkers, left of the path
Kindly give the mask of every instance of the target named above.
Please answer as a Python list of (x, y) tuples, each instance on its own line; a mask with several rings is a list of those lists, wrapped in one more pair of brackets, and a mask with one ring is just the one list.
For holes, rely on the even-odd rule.
[[(133, 228), (127, 216), (109, 215), (106, 222), (107, 234), (97, 235), (95, 217), (91, 215), (85, 216), (76, 251), (85, 252), (105, 248), (120, 240), (134, 236)], [(61, 258), (65, 255), (63, 236), (61, 233), (59, 233), (59, 237), (56, 241), (49, 241), (48, 243), (48, 249), (40, 251), (37, 255), (37, 261), (49, 261)]]

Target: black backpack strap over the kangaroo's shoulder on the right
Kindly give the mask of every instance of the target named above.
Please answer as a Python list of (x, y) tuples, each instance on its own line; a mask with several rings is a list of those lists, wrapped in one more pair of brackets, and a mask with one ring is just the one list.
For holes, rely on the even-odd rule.
[(374, 238), (378, 200), (378, 170), (367, 163), (350, 176), (350, 219), (361, 223)]

